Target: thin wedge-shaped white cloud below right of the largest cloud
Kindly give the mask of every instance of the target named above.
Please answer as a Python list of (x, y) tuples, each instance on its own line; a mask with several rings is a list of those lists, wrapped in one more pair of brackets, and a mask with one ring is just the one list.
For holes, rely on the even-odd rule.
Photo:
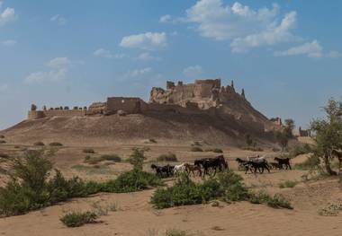
[(323, 48), (317, 40), (306, 42), (300, 46), (289, 48), (282, 52), (275, 52), (275, 56), (306, 55), (308, 57), (322, 57)]

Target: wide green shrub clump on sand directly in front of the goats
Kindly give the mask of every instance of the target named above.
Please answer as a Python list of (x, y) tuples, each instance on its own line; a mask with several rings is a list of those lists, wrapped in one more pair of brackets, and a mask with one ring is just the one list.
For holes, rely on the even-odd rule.
[(220, 172), (217, 178), (205, 179), (195, 183), (187, 175), (176, 179), (172, 187), (157, 188), (151, 197), (151, 203), (158, 209), (177, 205), (196, 205), (208, 203), (214, 199), (225, 202), (250, 201), (254, 204), (266, 203), (275, 208), (292, 209), (290, 203), (276, 195), (270, 197), (266, 193), (254, 194), (245, 187), (242, 178), (231, 170)]

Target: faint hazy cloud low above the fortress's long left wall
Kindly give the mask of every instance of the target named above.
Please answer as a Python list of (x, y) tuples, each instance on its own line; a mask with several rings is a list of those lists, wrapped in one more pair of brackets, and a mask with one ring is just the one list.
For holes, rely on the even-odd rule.
[(45, 64), (45, 66), (50, 68), (49, 71), (31, 73), (23, 82), (45, 83), (62, 81), (67, 78), (67, 69), (69, 66), (82, 63), (82, 61), (72, 61), (67, 57), (56, 57)]

